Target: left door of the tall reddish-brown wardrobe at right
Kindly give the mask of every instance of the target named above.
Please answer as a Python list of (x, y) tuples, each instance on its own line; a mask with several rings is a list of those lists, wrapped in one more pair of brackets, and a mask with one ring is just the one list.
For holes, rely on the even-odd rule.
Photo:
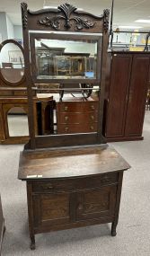
[(114, 54), (111, 62), (106, 137), (124, 137), (131, 55)]

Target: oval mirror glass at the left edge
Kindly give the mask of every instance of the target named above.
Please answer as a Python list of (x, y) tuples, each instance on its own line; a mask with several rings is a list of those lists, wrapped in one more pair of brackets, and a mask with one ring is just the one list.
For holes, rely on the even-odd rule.
[(13, 43), (7, 43), (0, 52), (0, 68), (4, 79), (18, 83), (24, 75), (24, 57), (22, 50)]

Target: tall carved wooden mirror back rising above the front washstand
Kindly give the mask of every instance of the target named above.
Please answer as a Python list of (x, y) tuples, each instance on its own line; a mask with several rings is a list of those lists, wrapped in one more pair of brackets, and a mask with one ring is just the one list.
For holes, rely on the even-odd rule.
[[(22, 3), (22, 28), (31, 137), (25, 149), (101, 144), (109, 11), (95, 16), (62, 4), (31, 12)], [(38, 123), (33, 91), (45, 97)]]

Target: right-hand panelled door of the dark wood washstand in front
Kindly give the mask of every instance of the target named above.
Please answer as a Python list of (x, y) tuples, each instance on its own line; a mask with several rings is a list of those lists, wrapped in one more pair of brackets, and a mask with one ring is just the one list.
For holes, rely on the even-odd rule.
[(77, 219), (114, 216), (117, 186), (86, 190), (77, 196)]

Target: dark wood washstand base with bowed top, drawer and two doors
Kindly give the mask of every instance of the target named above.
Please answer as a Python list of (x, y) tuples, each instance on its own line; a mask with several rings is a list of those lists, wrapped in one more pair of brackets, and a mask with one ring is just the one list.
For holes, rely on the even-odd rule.
[(35, 234), (84, 225), (112, 223), (116, 235), (128, 168), (107, 145), (23, 152), (18, 178), (27, 183), (31, 249)]

